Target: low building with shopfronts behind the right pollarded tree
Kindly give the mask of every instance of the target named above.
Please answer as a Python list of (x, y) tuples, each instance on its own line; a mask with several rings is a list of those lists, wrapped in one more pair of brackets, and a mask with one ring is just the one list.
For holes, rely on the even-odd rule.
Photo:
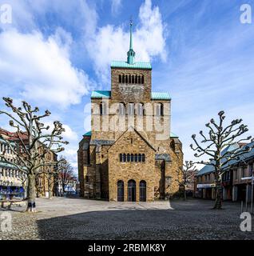
[[(248, 144), (234, 143), (225, 150), (237, 150), (241, 146), (252, 148), (254, 142)], [(250, 201), (252, 198), (252, 180), (254, 169), (254, 148), (250, 152), (240, 156), (238, 160), (232, 160), (224, 167), (222, 174), (223, 199), (232, 201)], [(196, 175), (195, 195), (198, 198), (215, 198), (215, 181), (212, 166), (204, 166)]]

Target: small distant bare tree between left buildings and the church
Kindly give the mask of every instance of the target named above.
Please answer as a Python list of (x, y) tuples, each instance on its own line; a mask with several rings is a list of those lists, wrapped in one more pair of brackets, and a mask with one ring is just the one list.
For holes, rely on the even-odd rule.
[(59, 179), (62, 184), (62, 190), (65, 192), (65, 186), (72, 182), (75, 178), (73, 167), (63, 157), (60, 159), (61, 163), (58, 165)]

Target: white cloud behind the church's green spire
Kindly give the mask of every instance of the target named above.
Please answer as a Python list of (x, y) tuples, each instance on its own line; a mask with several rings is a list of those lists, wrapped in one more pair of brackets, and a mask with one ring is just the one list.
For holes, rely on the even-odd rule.
[[(159, 8), (152, 6), (151, 0), (145, 0), (141, 5), (139, 21), (133, 31), (136, 61), (151, 61), (156, 57), (165, 61), (165, 24), (162, 22)], [(110, 62), (127, 58), (129, 26), (128, 30), (123, 26), (102, 26), (94, 32), (86, 47), (90, 58), (93, 59), (97, 76), (102, 82), (109, 83)]]

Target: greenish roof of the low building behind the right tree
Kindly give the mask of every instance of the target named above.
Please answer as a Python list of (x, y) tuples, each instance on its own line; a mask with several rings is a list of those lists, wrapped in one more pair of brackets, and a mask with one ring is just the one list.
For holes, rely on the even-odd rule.
[[(228, 164), (226, 166), (223, 167), (223, 169), (227, 169), (229, 166), (235, 165), (238, 162), (242, 162), (242, 161), (247, 161), (249, 158), (254, 158), (254, 142), (250, 142), (248, 144), (246, 144), (244, 147), (250, 147), (252, 150), (250, 150), (248, 153), (242, 154), (240, 155), (240, 157), (238, 159), (232, 160), (230, 162), (228, 162)], [(233, 151), (233, 150), (238, 150), (240, 148), (240, 146), (235, 142), (230, 146), (227, 146), (223, 151), (222, 154), (224, 154), (226, 151)], [(224, 162), (225, 159), (222, 159), (222, 162)], [(204, 166), (198, 173), (197, 176), (203, 175), (203, 174), (209, 174), (212, 173), (214, 171), (214, 167), (213, 166), (209, 166), (206, 165)]]

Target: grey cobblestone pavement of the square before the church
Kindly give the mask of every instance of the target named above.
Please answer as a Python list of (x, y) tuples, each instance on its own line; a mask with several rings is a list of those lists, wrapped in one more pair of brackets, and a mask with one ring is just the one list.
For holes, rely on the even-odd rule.
[[(240, 205), (190, 199), (169, 202), (103, 202), (81, 198), (39, 198), (38, 213), (24, 206), (0, 210), (12, 215), (12, 231), (1, 239), (253, 239), (240, 231)], [(1, 222), (0, 218), (0, 222)], [(1, 224), (1, 223), (0, 223)]]

